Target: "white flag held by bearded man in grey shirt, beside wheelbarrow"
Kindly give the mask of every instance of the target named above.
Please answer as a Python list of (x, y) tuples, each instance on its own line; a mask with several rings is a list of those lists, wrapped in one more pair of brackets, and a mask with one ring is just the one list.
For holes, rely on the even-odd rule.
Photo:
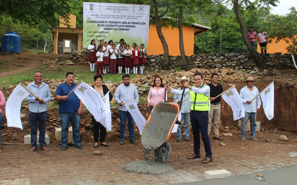
[(136, 101), (131, 101), (131, 102), (125, 103), (125, 105), (127, 107), (128, 112), (131, 114), (132, 118), (134, 119), (134, 121), (138, 127), (139, 133), (141, 135), (144, 125), (146, 123), (146, 120), (143, 117), (143, 115), (141, 114), (141, 112), (139, 111)]

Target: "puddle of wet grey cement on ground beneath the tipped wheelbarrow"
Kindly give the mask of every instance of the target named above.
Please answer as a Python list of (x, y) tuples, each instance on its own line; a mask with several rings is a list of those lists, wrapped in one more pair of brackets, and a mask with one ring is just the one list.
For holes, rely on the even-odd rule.
[(124, 170), (138, 173), (138, 174), (159, 175), (159, 174), (165, 174), (173, 170), (173, 168), (171, 166), (158, 163), (155, 161), (133, 161), (128, 163), (124, 167)]

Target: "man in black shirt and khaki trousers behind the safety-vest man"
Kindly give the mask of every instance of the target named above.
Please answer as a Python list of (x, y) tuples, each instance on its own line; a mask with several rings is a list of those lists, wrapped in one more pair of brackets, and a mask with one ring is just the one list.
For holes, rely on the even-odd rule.
[[(210, 87), (210, 110), (208, 114), (208, 135), (211, 131), (211, 121), (213, 119), (213, 139), (223, 140), (223, 138), (219, 134), (219, 123), (221, 116), (221, 109), (224, 111), (224, 100), (222, 96), (216, 97), (217, 95), (223, 92), (223, 87), (221, 84), (217, 83), (219, 75), (217, 73), (213, 73), (211, 75), (211, 83), (209, 83)], [(221, 106), (222, 104), (222, 106)]]

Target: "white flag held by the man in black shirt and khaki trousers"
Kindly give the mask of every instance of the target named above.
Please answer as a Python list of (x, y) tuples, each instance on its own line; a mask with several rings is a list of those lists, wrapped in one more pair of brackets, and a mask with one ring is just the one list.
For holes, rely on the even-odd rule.
[(222, 94), (224, 101), (230, 105), (233, 111), (233, 120), (244, 117), (244, 107), (235, 87), (230, 88), (227, 92)]

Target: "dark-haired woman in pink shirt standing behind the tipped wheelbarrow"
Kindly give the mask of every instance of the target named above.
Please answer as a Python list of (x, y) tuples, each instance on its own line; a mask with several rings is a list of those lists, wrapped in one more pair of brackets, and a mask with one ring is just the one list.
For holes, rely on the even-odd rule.
[[(150, 107), (151, 112), (155, 105), (157, 105), (159, 102), (164, 102), (165, 91), (166, 89), (164, 88), (164, 84), (161, 77), (156, 76), (154, 79), (153, 86), (149, 89), (149, 95), (148, 95), (148, 106)], [(167, 93), (166, 93), (166, 101), (167, 101)]]

